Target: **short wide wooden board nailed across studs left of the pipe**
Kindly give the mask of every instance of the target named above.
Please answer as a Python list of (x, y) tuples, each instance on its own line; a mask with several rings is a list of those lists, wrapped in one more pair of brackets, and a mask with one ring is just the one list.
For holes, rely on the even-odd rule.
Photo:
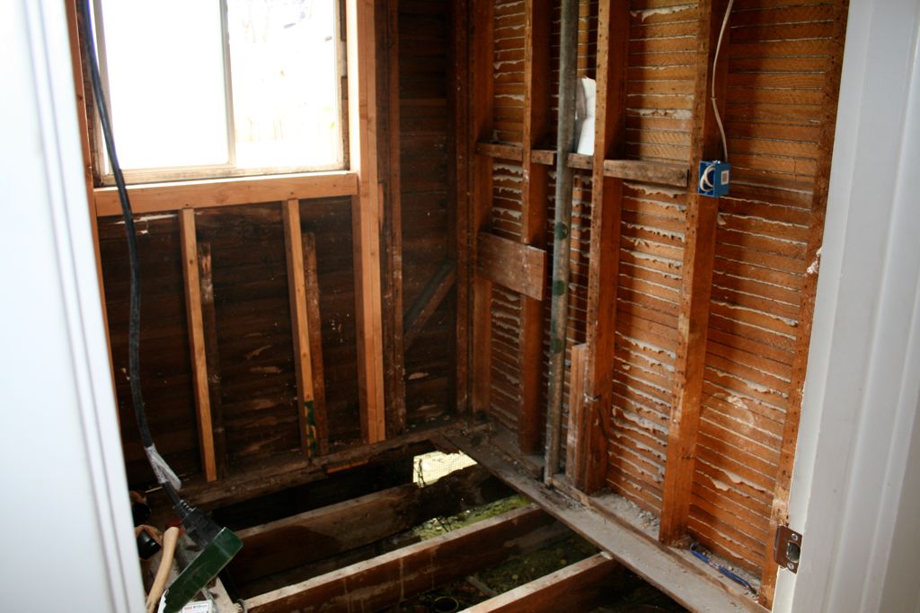
[(479, 233), (477, 272), (537, 301), (546, 288), (546, 251), (495, 234)]

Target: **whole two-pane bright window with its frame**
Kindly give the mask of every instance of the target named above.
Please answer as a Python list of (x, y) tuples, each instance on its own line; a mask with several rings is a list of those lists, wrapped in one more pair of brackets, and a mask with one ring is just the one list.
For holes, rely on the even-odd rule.
[(342, 167), (336, 0), (95, 1), (129, 182)]

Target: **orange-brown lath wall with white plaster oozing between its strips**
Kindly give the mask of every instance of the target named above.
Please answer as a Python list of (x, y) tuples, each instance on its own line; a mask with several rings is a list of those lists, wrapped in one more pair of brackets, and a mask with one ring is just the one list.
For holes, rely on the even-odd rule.
[[(491, 96), (477, 131), (474, 180), (490, 196), (477, 201), (488, 210), (478, 229), (520, 240), (526, 166), (553, 161), (528, 155), (524, 131), (533, 8), (484, 4), (493, 49), (483, 51), (483, 32), (475, 40), (493, 62), (471, 64)], [(579, 69), (598, 93), (594, 151), (569, 158), (581, 170), (567, 475), (660, 516), (662, 540), (689, 536), (763, 573), (769, 604), (776, 567), (766, 554), (794, 457), (847, 6), (738, 0), (712, 74), (727, 6), (581, 3)], [(713, 80), (733, 165), (722, 199), (696, 195), (698, 161), (723, 157)], [(484, 290), (490, 309), (474, 322), (489, 316), (491, 328), (474, 356), (488, 360), (479, 375), (490, 384), (477, 406), (520, 433), (522, 298)]]

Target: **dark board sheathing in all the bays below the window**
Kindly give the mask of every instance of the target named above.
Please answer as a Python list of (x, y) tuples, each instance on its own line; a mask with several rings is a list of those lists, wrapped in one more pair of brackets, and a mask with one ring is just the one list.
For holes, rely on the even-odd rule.
[[(316, 236), (330, 441), (360, 438), (354, 333), (351, 205), (301, 202), (303, 232)], [(265, 203), (196, 214), (213, 260), (221, 406), (231, 471), (300, 448), (281, 206)], [(141, 375), (157, 448), (181, 474), (201, 470), (174, 213), (141, 216)], [(112, 358), (129, 482), (153, 479), (131, 412), (127, 370), (128, 267), (124, 226), (99, 221)]]

